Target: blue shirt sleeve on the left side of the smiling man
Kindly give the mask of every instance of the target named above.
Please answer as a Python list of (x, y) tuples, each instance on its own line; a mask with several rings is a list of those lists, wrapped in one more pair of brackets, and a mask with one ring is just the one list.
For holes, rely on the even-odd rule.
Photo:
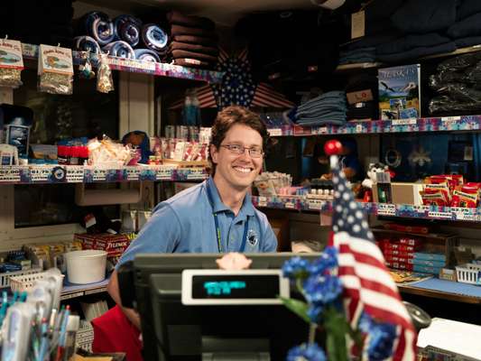
[(160, 203), (139, 235), (125, 250), (116, 268), (134, 260), (135, 255), (140, 253), (172, 253), (180, 239), (181, 226), (177, 214), (168, 203)]

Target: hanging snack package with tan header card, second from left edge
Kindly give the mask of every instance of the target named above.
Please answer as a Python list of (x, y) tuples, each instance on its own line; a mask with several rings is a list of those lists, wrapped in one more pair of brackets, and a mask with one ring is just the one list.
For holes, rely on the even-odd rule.
[(72, 94), (72, 51), (60, 46), (41, 44), (39, 51), (39, 91), (51, 94)]

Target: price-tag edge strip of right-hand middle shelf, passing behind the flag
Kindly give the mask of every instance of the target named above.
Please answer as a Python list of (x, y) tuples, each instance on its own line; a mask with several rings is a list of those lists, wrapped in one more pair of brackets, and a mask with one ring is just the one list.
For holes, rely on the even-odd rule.
[[(304, 197), (253, 197), (259, 208), (332, 211), (332, 202)], [(400, 218), (439, 219), (451, 221), (481, 222), (481, 208), (454, 208), (413, 206), (409, 204), (384, 204), (358, 202), (366, 214)]]

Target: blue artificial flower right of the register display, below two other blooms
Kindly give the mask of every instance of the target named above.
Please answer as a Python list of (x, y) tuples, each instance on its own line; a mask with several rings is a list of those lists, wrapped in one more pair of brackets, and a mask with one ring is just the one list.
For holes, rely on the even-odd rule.
[(311, 275), (304, 282), (306, 300), (316, 305), (325, 305), (335, 301), (342, 292), (342, 283), (338, 276), (330, 274)]

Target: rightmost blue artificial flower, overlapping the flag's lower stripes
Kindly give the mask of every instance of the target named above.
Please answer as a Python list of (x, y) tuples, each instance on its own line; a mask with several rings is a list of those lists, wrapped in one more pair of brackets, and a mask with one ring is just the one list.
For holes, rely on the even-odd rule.
[(393, 324), (373, 322), (369, 331), (369, 346), (367, 347), (369, 360), (384, 360), (392, 356), (395, 338), (396, 327)]

